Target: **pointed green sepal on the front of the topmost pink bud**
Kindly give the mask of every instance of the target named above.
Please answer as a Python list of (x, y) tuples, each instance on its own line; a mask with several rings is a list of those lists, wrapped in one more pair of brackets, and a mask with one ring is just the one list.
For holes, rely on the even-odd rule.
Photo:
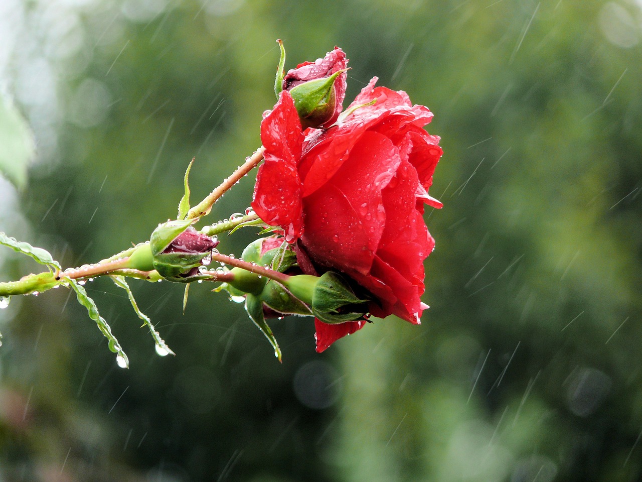
[(345, 71), (347, 69), (336, 71), (329, 77), (308, 80), (288, 91), (304, 129), (318, 127), (333, 118), (336, 112), (334, 82)]

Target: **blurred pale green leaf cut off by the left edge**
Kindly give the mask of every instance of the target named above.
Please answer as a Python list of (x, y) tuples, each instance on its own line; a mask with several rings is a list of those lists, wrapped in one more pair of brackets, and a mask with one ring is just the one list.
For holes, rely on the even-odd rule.
[(0, 93), (0, 174), (19, 189), (27, 183), (27, 166), (35, 153), (33, 134), (10, 99)]

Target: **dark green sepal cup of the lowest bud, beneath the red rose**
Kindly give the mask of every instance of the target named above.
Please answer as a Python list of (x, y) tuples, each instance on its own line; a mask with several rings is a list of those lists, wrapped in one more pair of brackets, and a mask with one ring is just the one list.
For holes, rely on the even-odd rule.
[(312, 313), (324, 323), (344, 323), (363, 319), (363, 315), (368, 312), (367, 303), (367, 299), (354, 294), (343, 276), (328, 271), (315, 285)]

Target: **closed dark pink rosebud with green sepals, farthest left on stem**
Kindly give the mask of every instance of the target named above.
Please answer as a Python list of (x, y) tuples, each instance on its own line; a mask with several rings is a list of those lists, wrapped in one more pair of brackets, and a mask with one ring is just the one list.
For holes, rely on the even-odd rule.
[(176, 220), (160, 224), (149, 244), (130, 256), (130, 267), (141, 271), (155, 269), (169, 281), (187, 282), (198, 278), (198, 268), (211, 259), (218, 245), (213, 238), (189, 226), (193, 220)]

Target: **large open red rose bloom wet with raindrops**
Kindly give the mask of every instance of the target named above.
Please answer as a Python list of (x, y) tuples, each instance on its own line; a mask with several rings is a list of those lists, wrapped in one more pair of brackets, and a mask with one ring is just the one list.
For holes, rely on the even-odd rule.
[[(265, 162), (252, 207), (281, 226), (289, 242), (320, 269), (334, 269), (369, 290), (377, 317), (395, 314), (419, 323), (426, 305), (423, 261), (435, 242), (422, 217), (442, 150), (422, 127), (433, 114), (403, 91), (370, 81), (333, 127), (301, 132), (287, 92), (261, 123)], [(364, 105), (376, 99), (374, 105)], [(305, 269), (305, 268), (303, 268)], [(318, 320), (317, 351), (365, 321)]]

